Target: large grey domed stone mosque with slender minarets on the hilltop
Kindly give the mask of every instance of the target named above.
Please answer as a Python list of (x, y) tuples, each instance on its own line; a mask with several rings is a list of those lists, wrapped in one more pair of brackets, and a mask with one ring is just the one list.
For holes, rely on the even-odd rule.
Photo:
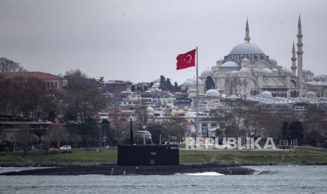
[[(253, 98), (263, 91), (273, 97), (299, 97), (304, 95), (302, 77), (302, 26), (299, 16), (297, 28), (297, 51), (293, 43), (291, 70), (284, 69), (277, 61), (269, 58), (259, 46), (250, 43), (250, 30), (246, 20), (244, 42), (231, 49), (228, 56), (217, 60), (211, 70), (199, 75), (199, 93), (205, 93), (205, 81), (212, 77), (215, 89), (226, 96)], [(182, 89), (195, 89), (193, 79), (182, 84)]]

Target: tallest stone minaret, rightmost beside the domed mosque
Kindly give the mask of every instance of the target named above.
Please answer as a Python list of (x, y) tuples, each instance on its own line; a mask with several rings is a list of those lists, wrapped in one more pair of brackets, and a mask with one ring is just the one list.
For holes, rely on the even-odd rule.
[(302, 26), (301, 26), (301, 17), (299, 15), (299, 23), (297, 25), (297, 79), (299, 82), (299, 86), (300, 86), (300, 96), (303, 95), (303, 75), (302, 75), (302, 55), (303, 55), (303, 51), (302, 51)]

